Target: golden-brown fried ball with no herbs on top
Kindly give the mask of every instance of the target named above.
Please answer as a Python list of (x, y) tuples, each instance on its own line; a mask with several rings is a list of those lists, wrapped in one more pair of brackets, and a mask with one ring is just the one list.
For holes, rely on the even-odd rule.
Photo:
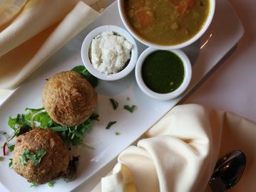
[(88, 80), (74, 71), (65, 71), (46, 82), (42, 100), (53, 121), (62, 126), (75, 126), (91, 116), (98, 97)]

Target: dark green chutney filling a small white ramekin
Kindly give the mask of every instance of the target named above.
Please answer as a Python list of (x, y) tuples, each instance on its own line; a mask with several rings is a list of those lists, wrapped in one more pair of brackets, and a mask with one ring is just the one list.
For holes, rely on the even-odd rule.
[(168, 50), (156, 50), (145, 58), (141, 73), (150, 90), (168, 93), (180, 87), (185, 70), (178, 55)]

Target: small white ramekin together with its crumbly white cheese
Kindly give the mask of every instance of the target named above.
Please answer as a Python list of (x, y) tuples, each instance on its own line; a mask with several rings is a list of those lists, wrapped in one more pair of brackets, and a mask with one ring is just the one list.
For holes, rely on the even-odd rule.
[(83, 65), (96, 78), (118, 80), (135, 68), (138, 48), (133, 36), (118, 26), (101, 26), (88, 33), (81, 48)]

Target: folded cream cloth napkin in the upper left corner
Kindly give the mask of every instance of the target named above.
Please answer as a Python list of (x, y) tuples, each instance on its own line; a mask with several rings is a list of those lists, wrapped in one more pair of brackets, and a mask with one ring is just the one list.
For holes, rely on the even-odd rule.
[(100, 15), (85, 2), (0, 0), (0, 89), (15, 88)]

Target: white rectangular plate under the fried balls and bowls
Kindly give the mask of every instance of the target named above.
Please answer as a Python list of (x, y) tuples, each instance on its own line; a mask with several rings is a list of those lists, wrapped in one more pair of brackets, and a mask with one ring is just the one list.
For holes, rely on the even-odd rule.
[[(51, 57), (44, 65), (36, 70), (0, 107), (0, 131), (11, 134), (7, 125), (9, 116), (23, 113), (26, 107), (42, 107), (41, 91), (46, 78), (63, 70), (70, 70), (73, 66), (82, 65), (80, 48), (83, 38), (93, 28), (112, 24), (121, 26), (117, 3), (103, 12), (103, 15), (94, 23), (84, 29), (73, 40)], [(47, 185), (30, 188), (26, 179), (9, 169), (8, 162), (11, 154), (0, 161), (0, 182), (9, 191), (71, 191), (81, 183), (88, 181), (103, 166), (108, 164), (123, 149), (138, 139), (149, 127), (163, 117), (175, 106), (195, 85), (208, 75), (210, 70), (217, 66), (220, 59), (240, 40), (244, 33), (242, 25), (227, 1), (216, 1), (216, 12), (213, 23), (200, 41), (185, 48), (185, 53), (193, 63), (193, 78), (187, 92), (175, 100), (158, 102), (141, 92), (135, 82), (134, 72), (127, 78), (116, 82), (99, 81), (96, 88), (98, 92), (98, 114), (100, 121), (93, 125), (93, 129), (85, 137), (85, 142), (95, 147), (96, 150), (79, 148), (75, 152), (81, 158), (78, 165), (78, 175), (75, 181), (66, 183), (58, 181), (53, 188)], [(138, 43), (138, 42), (137, 42)], [(140, 53), (145, 49), (138, 43)], [(127, 101), (126, 97), (130, 97)], [(119, 102), (118, 110), (113, 110), (109, 99)], [(137, 110), (130, 113), (123, 110), (123, 105), (136, 105)], [(111, 129), (105, 129), (108, 122), (117, 121)], [(115, 132), (120, 132), (116, 136)], [(4, 137), (0, 137), (0, 144)]]

